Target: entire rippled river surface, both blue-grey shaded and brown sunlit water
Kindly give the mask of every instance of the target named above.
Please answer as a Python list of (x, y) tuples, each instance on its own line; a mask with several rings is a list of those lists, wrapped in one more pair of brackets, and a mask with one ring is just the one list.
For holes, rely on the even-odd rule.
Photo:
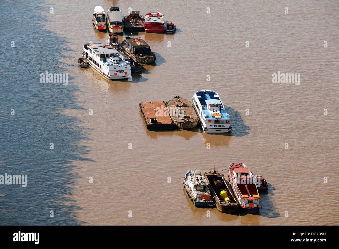
[[(0, 185), (0, 224), (338, 223), (335, 1), (1, 4), (0, 174), (27, 174), (28, 183)], [(118, 5), (123, 14), (128, 7), (142, 15), (159, 11), (177, 32), (133, 34), (156, 53), (155, 65), (132, 82), (109, 81), (77, 66), (84, 43), (107, 39), (92, 25), (96, 5)], [(45, 71), (67, 73), (68, 85), (40, 83)], [(300, 74), (300, 85), (272, 83), (278, 71)], [(231, 134), (146, 130), (139, 102), (190, 100), (204, 88), (227, 106)], [(184, 174), (213, 169), (213, 154), (216, 170), (243, 162), (265, 177), (270, 190), (260, 194), (259, 213), (224, 214), (191, 203)]]

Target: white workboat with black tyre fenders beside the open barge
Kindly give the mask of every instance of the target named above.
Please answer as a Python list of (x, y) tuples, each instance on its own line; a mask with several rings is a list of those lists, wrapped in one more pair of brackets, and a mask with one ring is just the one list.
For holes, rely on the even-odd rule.
[(184, 188), (186, 188), (186, 194), (196, 207), (215, 205), (215, 201), (211, 198), (207, 181), (201, 174), (201, 170), (198, 170), (198, 172), (192, 170), (187, 171), (183, 184)]

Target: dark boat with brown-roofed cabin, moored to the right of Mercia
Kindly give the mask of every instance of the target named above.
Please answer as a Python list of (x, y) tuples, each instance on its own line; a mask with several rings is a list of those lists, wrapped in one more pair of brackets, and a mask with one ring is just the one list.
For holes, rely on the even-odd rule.
[(151, 64), (155, 61), (155, 54), (151, 51), (151, 47), (140, 37), (127, 36), (121, 50), (128, 56), (134, 56), (142, 64)]

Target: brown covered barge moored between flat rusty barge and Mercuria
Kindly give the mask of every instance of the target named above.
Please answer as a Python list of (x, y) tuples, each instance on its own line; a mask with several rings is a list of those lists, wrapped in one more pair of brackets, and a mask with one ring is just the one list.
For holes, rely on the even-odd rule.
[(199, 117), (191, 102), (175, 96), (166, 102), (169, 116), (180, 129), (193, 129), (199, 124)]

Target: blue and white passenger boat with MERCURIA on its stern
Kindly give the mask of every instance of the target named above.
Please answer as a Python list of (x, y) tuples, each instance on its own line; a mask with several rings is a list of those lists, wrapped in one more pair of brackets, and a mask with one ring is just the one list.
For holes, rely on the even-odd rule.
[(231, 132), (230, 115), (215, 91), (197, 91), (192, 98), (193, 106), (204, 132)]

